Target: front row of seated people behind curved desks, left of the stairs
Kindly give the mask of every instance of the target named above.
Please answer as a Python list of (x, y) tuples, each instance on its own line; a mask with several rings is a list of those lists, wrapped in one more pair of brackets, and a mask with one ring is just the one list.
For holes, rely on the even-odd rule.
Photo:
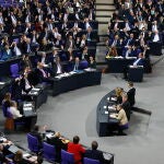
[(36, 84), (43, 82), (51, 83), (52, 79), (58, 74), (86, 68), (96, 69), (96, 62), (85, 50), (83, 51), (83, 60), (75, 57), (68, 63), (60, 61), (59, 54), (56, 49), (49, 55), (45, 52), (37, 54), (34, 62), (28, 55), (25, 55), (20, 61), (17, 72), (14, 73), (15, 75), (12, 80), (12, 98), (15, 101), (32, 101), (27, 94)]

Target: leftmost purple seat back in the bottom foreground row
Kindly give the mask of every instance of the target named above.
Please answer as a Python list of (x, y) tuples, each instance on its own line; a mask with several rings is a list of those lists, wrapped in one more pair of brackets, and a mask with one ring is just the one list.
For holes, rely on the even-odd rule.
[(30, 133), (27, 133), (27, 143), (28, 143), (28, 149), (32, 152), (38, 152), (39, 148), (38, 148), (38, 139)]

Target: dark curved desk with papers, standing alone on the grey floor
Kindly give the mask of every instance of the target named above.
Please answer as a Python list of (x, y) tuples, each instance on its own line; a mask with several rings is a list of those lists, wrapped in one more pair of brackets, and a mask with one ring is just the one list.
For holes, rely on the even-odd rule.
[(116, 118), (109, 117), (109, 114), (116, 113), (114, 109), (109, 108), (115, 105), (115, 90), (106, 94), (99, 102), (96, 112), (96, 129), (99, 137), (107, 136), (109, 125), (118, 125)]

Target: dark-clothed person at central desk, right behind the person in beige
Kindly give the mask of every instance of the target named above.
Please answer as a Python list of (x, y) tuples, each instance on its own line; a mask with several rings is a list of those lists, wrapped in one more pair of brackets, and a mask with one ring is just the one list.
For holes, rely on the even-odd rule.
[(128, 120), (130, 120), (131, 106), (130, 106), (130, 103), (128, 101), (128, 95), (127, 94), (122, 94), (121, 107), (126, 112)]

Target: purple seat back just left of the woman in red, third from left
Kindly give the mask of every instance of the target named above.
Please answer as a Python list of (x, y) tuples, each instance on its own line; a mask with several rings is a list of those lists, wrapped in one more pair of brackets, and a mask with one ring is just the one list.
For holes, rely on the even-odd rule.
[(61, 150), (61, 164), (74, 164), (74, 155)]

